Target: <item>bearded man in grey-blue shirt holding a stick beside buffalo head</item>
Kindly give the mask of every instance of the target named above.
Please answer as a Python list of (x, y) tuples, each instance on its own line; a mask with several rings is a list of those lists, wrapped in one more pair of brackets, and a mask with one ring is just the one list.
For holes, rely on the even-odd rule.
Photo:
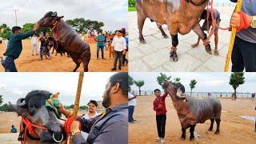
[[(128, 73), (117, 73), (110, 77), (103, 94), (102, 106), (105, 112), (95, 118), (85, 119), (78, 117), (70, 125), (70, 134), (73, 144), (102, 144), (128, 142)], [(70, 110), (64, 106), (58, 110), (66, 117)], [(82, 138), (81, 130), (89, 133), (87, 139)]]

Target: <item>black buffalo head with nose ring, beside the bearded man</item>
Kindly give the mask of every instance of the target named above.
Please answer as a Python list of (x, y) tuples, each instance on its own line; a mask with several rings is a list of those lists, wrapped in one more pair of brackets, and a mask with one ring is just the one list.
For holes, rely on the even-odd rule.
[[(54, 110), (46, 107), (46, 99), (50, 98), (50, 95), (46, 90), (33, 90), (26, 94), (25, 98), (19, 98), (16, 105), (10, 105), (22, 118), (28, 119), (34, 125), (46, 127), (47, 130), (34, 128), (41, 142), (54, 143), (62, 141), (64, 131)], [(22, 124), (21, 126), (24, 129)]]

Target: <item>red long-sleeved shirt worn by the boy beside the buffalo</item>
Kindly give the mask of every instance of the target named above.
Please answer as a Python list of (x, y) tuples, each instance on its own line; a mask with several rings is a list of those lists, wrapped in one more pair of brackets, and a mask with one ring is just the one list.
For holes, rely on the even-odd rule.
[[(166, 114), (166, 97), (167, 93), (162, 94), (159, 98), (155, 98), (153, 102), (154, 111), (156, 115)], [(161, 106), (161, 107), (158, 107)]]

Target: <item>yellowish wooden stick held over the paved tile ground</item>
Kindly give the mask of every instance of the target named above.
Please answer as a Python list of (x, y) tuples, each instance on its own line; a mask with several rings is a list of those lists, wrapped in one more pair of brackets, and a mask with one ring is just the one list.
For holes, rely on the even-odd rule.
[[(235, 13), (240, 12), (241, 8), (242, 8), (242, 0), (238, 0), (237, 6), (235, 7), (234, 12)], [(230, 38), (230, 46), (229, 46), (229, 50), (226, 54), (226, 63), (225, 63), (224, 72), (227, 72), (229, 70), (229, 67), (230, 67), (230, 59), (231, 59), (231, 54), (232, 54), (233, 47), (234, 47), (234, 39), (235, 39), (236, 32), (237, 32), (237, 29), (232, 27), (231, 38)]]

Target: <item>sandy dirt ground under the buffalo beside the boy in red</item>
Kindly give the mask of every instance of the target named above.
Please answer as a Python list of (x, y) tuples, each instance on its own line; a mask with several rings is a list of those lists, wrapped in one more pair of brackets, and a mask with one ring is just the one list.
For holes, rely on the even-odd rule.
[[(129, 124), (129, 143), (159, 143), (155, 142), (157, 137), (157, 127), (155, 113), (153, 110), (154, 96), (137, 97), (137, 106), (134, 109), (134, 119), (137, 121)], [(166, 143), (256, 143), (256, 132), (254, 132), (254, 122), (242, 119), (239, 116), (250, 115), (255, 117), (255, 100), (250, 99), (221, 99), (222, 102), (222, 122), (220, 134), (215, 135), (214, 130), (208, 132), (210, 120), (203, 124), (198, 124), (195, 131), (199, 135), (194, 142), (190, 142), (190, 132), (186, 130), (186, 140), (180, 139), (182, 128), (178, 121), (178, 115), (171, 102), (170, 97), (166, 98)]]

